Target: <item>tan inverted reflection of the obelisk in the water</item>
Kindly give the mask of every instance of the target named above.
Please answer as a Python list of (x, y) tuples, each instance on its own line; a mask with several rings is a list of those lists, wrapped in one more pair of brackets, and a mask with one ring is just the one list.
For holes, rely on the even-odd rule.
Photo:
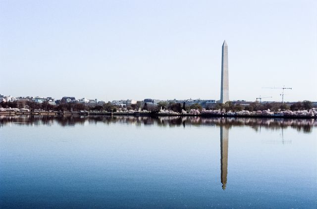
[(228, 174), (228, 141), (229, 128), (220, 126), (220, 155), (221, 155), (221, 183), (222, 189), (226, 189), (227, 174)]

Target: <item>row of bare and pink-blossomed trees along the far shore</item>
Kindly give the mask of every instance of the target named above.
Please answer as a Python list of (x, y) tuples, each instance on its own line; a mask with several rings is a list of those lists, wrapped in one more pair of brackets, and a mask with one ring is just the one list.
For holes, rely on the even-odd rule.
[(214, 104), (210, 108), (203, 108), (200, 104), (186, 105), (173, 102), (159, 102), (156, 106), (145, 103), (131, 104), (127, 107), (113, 105), (110, 102), (103, 105), (85, 105), (81, 103), (64, 103), (59, 105), (47, 102), (26, 102), (21, 105), (17, 102), (1, 102), (1, 114), (21, 114), (33, 112), (34, 114), (148, 114), (148, 115), (202, 115), (202, 116), (269, 116), (269, 117), (309, 117), (316, 118), (317, 107), (312, 102), (297, 102), (292, 105), (285, 103), (259, 103), (250, 105)]

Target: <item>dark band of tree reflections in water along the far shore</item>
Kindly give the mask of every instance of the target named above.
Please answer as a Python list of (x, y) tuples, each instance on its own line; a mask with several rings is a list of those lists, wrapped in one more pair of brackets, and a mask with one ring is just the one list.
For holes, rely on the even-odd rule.
[(61, 126), (84, 125), (85, 122), (91, 124), (112, 123), (143, 125), (169, 126), (250, 126), (255, 131), (261, 129), (286, 129), (295, 128), (298, 131), (309, 133), (314, 126), (317, 126), (316, 119), (289, 119), (289, 118), (238, 118), (238, 117), (195, 117), (195, 116), (126, 116), (126, 115), (0, 115), (0, 126), (14, 123), (18, 125), (53, 125), (57, 123)]

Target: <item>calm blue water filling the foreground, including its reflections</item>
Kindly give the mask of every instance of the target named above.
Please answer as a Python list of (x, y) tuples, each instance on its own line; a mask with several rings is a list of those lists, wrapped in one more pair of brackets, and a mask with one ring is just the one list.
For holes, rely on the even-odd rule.
[(317, 207), (314, 119), (0, 116), (0, 208)]

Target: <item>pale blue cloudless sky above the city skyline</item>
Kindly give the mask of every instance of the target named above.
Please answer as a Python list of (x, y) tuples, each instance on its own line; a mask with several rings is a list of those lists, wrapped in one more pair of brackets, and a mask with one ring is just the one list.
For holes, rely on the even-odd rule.
[(317, 101), (315, 0), (0, 0), (0, 94)]

